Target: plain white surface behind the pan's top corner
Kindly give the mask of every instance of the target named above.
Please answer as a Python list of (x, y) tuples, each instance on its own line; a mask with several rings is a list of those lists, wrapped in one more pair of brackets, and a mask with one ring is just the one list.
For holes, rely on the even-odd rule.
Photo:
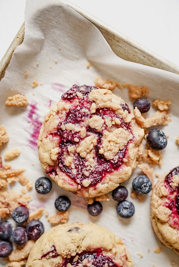
[[(72, 0), (110, 26), (179, 65), (178, 0)], [(25, 0), (0, 0), (0, 60), (24, 21)]]

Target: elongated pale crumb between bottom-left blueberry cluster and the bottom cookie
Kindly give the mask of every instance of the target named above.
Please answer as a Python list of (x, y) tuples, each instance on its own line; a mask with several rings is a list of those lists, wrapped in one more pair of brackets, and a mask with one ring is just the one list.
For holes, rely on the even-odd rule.
[(29, 253), (35, 242), (33, 240), (28, 240), (22, 249), (15, 249), (9, 255), (10, 261), (21, 261), (29, 256)]

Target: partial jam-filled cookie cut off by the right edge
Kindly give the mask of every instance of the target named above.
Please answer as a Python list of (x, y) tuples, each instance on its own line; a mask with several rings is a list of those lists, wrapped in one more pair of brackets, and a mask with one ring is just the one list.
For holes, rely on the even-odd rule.
[(179, 167), (162, 175), (151, 198), (151, 222), (160, 241), (179, 253)]

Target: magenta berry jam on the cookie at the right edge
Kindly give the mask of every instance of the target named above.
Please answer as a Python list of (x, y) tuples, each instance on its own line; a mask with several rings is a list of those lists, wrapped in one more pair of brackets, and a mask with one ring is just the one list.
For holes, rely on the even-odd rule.
[(172, 178), (174, 175), (179, 176), (179, 167), (171, 170), (171, 172), (169, 172), (169, 174), (165, 177), (164, 186), (170, 194), (167, 196), (167, 202), (164, 203), (163, 206), (172, 211), (169, 218), (170, 226), (179, 230), (179, 185), (172, 187)]

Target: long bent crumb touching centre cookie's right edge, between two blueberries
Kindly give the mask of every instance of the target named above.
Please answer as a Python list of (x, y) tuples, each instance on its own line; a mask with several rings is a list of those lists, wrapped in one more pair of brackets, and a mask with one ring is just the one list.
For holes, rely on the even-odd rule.
[(144, 119), (139, 109), (135, 107), (134, 115), (141, 128), (149, 128), (157, 125), (168, 125), (168, 123), (171, 121), (171, 119), (168, 117), (168, 111), (165, 110), (158, 110), (152, 115), (152, 117)]

